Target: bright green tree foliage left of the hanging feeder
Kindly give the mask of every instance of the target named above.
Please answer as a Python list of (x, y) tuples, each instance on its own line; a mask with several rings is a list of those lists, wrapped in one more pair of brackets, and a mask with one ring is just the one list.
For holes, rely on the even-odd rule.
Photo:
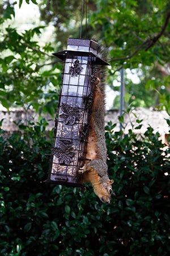
[(33, 106), (39, 112), (43, 109), (53, 114), (61, 63), (52, 59), (51, 43), (42, 45), (38, 42), (43, 26), (18, 32), (9, 23), (15, 16), (14, 5), (7, 1), (1, 7), (0, 101), (7, 109), (10, 106), (24, 106), (25, 109)]

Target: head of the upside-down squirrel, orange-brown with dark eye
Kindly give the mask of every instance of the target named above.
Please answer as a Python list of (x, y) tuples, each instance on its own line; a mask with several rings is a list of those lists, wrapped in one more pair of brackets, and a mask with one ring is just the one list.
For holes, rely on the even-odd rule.
[(94, 192), (99, 197), (103, 203), (110, 203), (112, 191), (113, 180), (107, 180), (105, 182), (100, 182), (98, 185), (94, 186)]

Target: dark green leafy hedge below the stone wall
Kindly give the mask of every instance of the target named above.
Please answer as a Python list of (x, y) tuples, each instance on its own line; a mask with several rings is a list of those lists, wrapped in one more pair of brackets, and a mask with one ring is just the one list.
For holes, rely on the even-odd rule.
[(169, 148), (148, 127), (139, 138), (108, 123), (111, 204), (87, 184), (46, 184), (51, 142), (44, 119), (1, 130), (1, 255), (168, 255), (170, 252)]

